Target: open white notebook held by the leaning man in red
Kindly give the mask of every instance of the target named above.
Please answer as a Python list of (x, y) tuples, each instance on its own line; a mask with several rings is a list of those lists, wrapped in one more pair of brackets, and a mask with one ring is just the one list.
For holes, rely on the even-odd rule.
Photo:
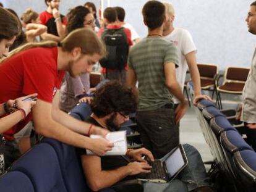
[[(101, 135), (90, 135), (90, 138), (101, 138)], [(126, 140), (126, 131), (113, 131), (109, 132), (105, 138), (109, 142), (114, 143), (114, 147), (111, 151), (107, 151), (105, 156), (117, 156), (125, 155), (127, 151), (127, 140)], [(87, 154), (94, 154), (89, 149), (86, 149)]]

